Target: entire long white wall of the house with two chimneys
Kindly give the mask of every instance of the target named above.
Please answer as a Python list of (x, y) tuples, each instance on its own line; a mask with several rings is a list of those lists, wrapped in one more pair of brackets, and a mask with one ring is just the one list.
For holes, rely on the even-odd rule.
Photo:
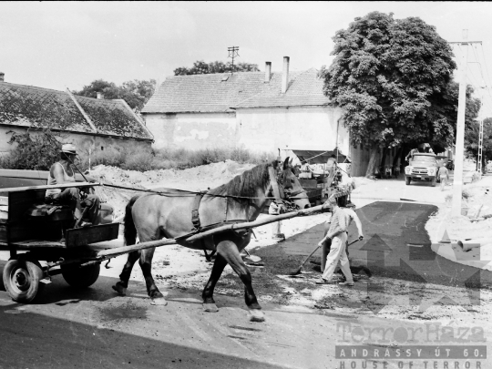
[[(278, 153), (278, 149), (334, 149), (354, 161), (356, 175), (364, 175), (367, 150), (350, 148), (342, 110), (329, 107), (242, 108), (236, 113), (144, 114), (154, 135), (154, 148), (233, 148)], [(355, 156), (355, 158), (354, 158)]]

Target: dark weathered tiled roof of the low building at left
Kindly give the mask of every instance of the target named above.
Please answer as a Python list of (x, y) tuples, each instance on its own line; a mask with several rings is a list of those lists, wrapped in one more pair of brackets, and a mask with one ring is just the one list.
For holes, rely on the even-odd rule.
[(67, 92), (0, 82), (0, 125), (152, 139), (124, 101), (74, 97), (83, 112)]

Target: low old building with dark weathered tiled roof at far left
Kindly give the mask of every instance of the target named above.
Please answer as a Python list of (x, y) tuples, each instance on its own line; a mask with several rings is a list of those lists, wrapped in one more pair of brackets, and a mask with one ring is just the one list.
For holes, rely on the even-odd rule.
[[(13, 149), (11, 131), (49, 128), (80, 151), (150, 148), (152, 134), (128, 104), (66, 91), (6, 83), (0, 74), (0, 153)], [(30, 132), (36, 134), (38, 130)]]

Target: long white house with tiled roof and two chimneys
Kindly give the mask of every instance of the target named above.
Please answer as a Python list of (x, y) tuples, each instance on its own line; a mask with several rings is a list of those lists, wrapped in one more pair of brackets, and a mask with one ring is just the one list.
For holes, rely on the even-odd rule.
[[(253, 151), (336, 147), (353, 160), (353, 174), (364, 175), (368, 151), (354, 148), (343, 126), (342, 110), (323, 95), (314, 68), (282, 73), (222, 73), (167, 77), (142, 109), (156, 149), (233, 148)], [(283, 151), (284, 152), (284, 151)]]

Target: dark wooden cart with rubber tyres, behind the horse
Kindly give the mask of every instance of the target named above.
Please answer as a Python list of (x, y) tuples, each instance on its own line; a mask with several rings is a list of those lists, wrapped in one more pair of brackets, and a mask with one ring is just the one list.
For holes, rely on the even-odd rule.
[[(97, 281), (100, 261), (94, 262), (97, 242), (118, 238), (118, 223), (71, 229), (72, 211), (46, 205), (49, 188), (87, 188), (95, 183), (31, 186), (2, 189), (0, 198), (0, 250), (10, 251), (3, 271), (6, 291), (15, 302), (31, 302), (62, 274), (68, 284), (88, 287)], [(40, 261), (46, 261), (42, 266)]]

